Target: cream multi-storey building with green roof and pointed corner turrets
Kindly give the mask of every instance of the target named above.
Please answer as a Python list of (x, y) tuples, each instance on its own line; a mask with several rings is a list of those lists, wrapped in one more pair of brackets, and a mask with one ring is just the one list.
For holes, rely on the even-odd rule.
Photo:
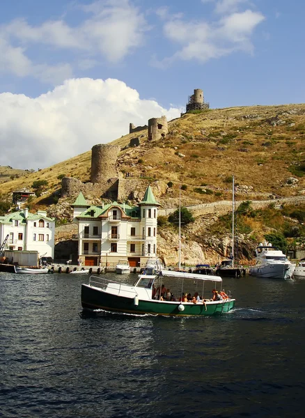
[(125, 259), (131, 267), (139, 267), (157, 256), (159, 203), (150, 186), (137, 206), (117, 202), (90, 206), (79, 193), (72, 207), (83, 265), (115, 267)]

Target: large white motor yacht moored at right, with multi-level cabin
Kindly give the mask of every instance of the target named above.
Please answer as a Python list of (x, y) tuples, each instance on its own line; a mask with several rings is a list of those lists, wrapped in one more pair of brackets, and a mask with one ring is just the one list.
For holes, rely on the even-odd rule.
[(290, 279), (295, 264), (290, 263), (285, 254), (265, 242), (256, 247), (256, 265), (249, 268), (249, 274), (271, 279)]

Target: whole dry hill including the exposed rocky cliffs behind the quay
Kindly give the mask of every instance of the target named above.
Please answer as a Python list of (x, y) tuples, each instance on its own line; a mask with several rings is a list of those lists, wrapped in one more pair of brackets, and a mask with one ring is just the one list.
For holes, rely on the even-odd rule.
[[(139, 137), (140, 144), (130, 147), (130, 139), (134, 137)], [(120, 176), (141, 177), (147, 183), (163, 185), (157, 199), (166, 212), (178, 206), (180, 185), (184, 206), (229, 201), (233, 174), (237, 201), (291, 196), (301, 199), (305, 193), (304, 139), (305, 104), (285, 104), (194, 111), (170, 121), (169, 133), (158, 141), (148, 141), (147, 130), (142, 130), (116, 139), (111, 145), (121, 148), (117, 164)], [(24, 172), (19, 178), (7, 180), (1, 184), (1, 193), (9, 196), (21, 187), (31, 189), (34, 181), (47, 180), (48, 187), (33, 202), (34, 208), (43, 207), (52, 215), (67, 216), (72, 199), (60, 199), (61, 178), (69, 176), (88, 182), (90, 173), (91, 150), (88, 150), (52, 167)], [(304, 212), (302, 199), (297, 204)], [(286, 217), (293, 215), (288, 209)], [(219, 224), (218, 206), (214, 210), (210, 215), (196, 210), (196, 222), (183, 231), (183, 252), (189, 262), (206, 258), (218, 261), (219, 255), (228, 254), (230, 228)], [(245, 258), (249, 258), (253, 245), (266, 231), (290, 228), (287, 219), (284, 222), (281, 215), (280, 222), (276, 212), (269, 213), (270, 219), (276, 219), (273, 224), (266, 224), (259, 216), (259, 221), (258, 217), (255, 222), (245, 221), (247, 233), (241, 237)], [(299, 215), (299, 221), (291, 222), (302, 219)], [(177, 231), (169, 226), (159, 231), (160, 252), (175, 261)]]

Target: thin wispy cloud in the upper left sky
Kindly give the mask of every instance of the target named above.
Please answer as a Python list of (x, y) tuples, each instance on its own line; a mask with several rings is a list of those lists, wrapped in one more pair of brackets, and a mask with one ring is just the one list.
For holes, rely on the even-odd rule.
[(128, 0), (97, 1), (83, 10), (88, 18), (78, 26), (69, 26), (64, 20), (37, 26), (31, 26), (24, 19), (2, 24), (0, 71), (17, 77), (31, 75), (56, 84), (72, 76), (71, 65), (31, 60), (27, 54), (29, 47), (47, 45), (52, 50), (52, 59), (56, 59), (54, 51), (76, 52), (79, 68), (88, 68), (101, 58), (117, 63), (143, 44), (143, 32), (149, 29), (148, 25), (139, 9)]

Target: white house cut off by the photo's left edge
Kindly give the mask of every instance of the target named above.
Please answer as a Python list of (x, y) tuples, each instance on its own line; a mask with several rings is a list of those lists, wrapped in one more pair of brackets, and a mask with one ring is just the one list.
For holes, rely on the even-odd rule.
[(29, 209), (0, 216), (0, 245), (4, 249), (38, 251), (39, 256), (54, 258), (55, 219), (45, 210), (30, 213)]

